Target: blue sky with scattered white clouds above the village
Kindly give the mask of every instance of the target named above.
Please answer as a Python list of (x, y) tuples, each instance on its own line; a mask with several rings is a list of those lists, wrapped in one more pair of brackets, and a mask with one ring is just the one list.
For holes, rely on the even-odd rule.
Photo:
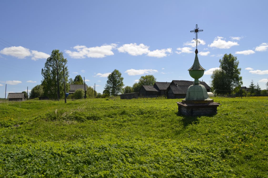
[(159, 82), (192, 80), (198, 24), (201, 80), (219, 59), (239, 60), (243, 85), (268, 78), (268, 1), (1, 1), (0, 97), (41, 83), (53, 49), (64, 52), (70, 77), (103, 91), (114, 69), (132, 86), (142, 75)]

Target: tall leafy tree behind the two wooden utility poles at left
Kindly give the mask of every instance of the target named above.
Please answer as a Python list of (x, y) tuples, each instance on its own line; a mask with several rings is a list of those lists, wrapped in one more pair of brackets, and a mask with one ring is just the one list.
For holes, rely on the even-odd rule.
[[(42, 86), (44, 90), (44, 96), (49, 97), (50, 99), (57, 99), (58, 94), (58, 86), (57, 86), (57, 69), (56, 69), (56, 61), (58, 62), (58, 78), (59, 78), (59, 96), (60, 98), (64, 98), (64, 82), (63, 79), (63, 67), (65, 72), (65, 81), (68, 81), (69, 71), (66, 66), (67, 59), (63, 57), (63, 53), (58, 49), (54, 49), (51, 52), (51, 56), (47, 58), (44, 68), (42, 68)], [(66, 91), (69, 91), (69, 83), (65, 83)]]

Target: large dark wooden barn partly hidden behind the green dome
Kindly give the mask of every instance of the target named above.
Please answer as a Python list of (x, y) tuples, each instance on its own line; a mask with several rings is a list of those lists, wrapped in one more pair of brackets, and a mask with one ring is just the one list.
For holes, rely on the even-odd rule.
[[(211, 88), (206, 82), (199, 83), (204, 85), (204, 87), (207, 89), (207, 92), (210, 92)], [(173, 80), (168, 87), (168, 99), (185, 98), (188, 87), (193, 84), (193, 81)]]

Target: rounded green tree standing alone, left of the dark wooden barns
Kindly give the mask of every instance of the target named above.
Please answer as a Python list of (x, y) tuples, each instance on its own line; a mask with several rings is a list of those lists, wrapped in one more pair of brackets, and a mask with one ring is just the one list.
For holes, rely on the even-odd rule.
[(121, 77), (121, 72), (115, 69), (111, 74), (108, 75), (108, 80), (105, 85), (105, 89), (109, 90), (111, 95), (116, 96), (122, 92), (124, 87), (123, 77)]

